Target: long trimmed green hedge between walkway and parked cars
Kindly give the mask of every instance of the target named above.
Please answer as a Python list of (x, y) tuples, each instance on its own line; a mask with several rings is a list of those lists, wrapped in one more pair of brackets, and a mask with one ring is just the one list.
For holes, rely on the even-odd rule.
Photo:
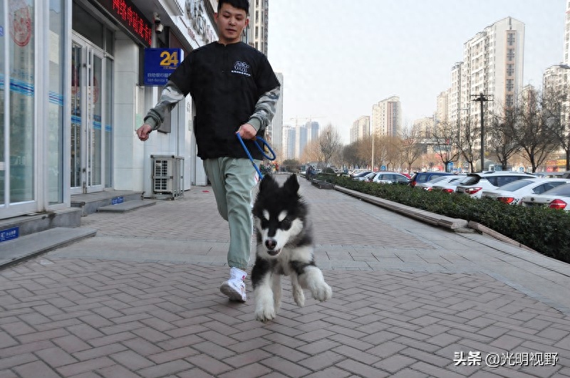
[(570, 263), (569, 212), (513, 206), (492, 199), (472, 199), (470, 196), (425, 191), (407, 185), (361, 182), (348, 177), (327, 177), (326, 181), (416, 209), (475, 221), (545, 256)]

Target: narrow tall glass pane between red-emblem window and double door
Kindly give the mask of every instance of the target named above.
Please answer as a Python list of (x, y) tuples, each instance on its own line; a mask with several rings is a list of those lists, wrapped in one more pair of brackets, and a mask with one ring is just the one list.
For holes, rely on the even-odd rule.
[(47, 165), (49, 204), (63, 203), (63, 4), (49, 2), (49, 105)]

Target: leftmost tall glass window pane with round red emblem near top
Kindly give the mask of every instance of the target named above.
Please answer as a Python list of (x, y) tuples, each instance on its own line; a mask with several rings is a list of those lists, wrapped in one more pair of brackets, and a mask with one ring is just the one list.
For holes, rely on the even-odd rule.
[[(34, 8), (33, 0), (12, 1), (9, 9), (10, 201), (34, 199)], [(4, 191), (4, 188), (1, 189)]]

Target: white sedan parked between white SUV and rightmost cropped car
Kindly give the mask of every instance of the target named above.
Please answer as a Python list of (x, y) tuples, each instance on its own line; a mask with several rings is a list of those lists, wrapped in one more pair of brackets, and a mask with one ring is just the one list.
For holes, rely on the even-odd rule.
[(484, 190), (481, 198), (490, 198), (504, 204), (518, 205), (522, 197), (542, 194), (560, 185), (570, 183), (570, 179), (522, 179), (503, 185), (498, 189)]

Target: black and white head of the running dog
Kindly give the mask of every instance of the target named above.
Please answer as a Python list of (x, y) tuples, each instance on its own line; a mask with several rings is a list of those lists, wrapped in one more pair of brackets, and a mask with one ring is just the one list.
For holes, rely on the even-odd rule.
[(295, 174), (283, 187), (266, 174), (259, 183), (259, 193), (253, 209), (257, 228), (258, 252), (265, 258), (276, 258), (287, 243), (303, 231), (306, 205), (299, 196)]

